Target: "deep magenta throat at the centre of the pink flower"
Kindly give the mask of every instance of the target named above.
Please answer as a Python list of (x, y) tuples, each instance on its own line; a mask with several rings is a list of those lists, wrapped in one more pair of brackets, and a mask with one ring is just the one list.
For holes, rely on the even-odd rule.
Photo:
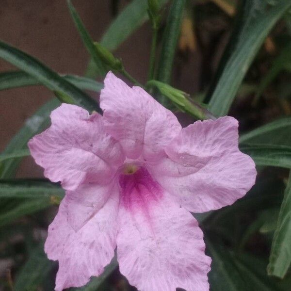
[(119, 176), (120, 198), (125, 208), (147, 212), (162, 197), (162, 187), (144, 166), (126, 165)]

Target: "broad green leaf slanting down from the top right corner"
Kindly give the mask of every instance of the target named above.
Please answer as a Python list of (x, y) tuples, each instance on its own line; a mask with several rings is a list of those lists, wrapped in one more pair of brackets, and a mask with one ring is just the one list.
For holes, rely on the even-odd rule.
[(245, 0), (207, 95), (209, 110), (225, 115), (264, 39), (275, 23), (291, 7), (291, 1)]

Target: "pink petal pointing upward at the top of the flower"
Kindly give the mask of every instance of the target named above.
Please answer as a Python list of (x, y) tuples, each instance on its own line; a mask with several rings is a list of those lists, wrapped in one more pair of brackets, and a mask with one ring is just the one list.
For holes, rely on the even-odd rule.
[(109, 72), (100, 95), (106, 130), (117, 139), (130, 159), (164, 155), (164, 147), (181, 129), (176, 116), (140, 87), (130, 88)]

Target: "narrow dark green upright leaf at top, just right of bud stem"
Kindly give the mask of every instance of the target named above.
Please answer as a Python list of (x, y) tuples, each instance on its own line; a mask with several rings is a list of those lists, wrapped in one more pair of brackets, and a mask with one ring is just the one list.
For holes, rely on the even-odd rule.
[(171, 81), (172, 67), (185, 5), (186, 0), (173, 0), (167, 18), (166, 28), (163, 33), (161, 59), (158, 69), (158, 80), (163, 83), (170, 83)]

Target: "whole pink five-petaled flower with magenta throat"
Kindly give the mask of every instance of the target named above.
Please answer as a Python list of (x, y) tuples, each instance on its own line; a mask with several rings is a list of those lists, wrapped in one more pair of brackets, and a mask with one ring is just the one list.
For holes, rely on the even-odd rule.
[(98, 276), (114, 256), (140, 291), (208, 291), (211, 259), (189, 212), (219, 209), (254, 184), (232, 117), (177, 118), (140, 87), (108, 73), (103, 116), (62, 104), (29, 147), (66, 195), (45, 251), (59, 261), (56, 291)]

